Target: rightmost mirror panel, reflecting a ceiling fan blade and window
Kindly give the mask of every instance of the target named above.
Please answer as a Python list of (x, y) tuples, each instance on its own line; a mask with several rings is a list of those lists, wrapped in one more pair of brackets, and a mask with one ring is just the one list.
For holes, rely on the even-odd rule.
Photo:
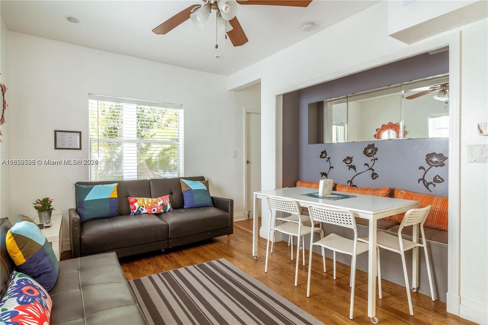
[(406, 138), (449, 136), (448, 75), (402, 85), (402, 112)]

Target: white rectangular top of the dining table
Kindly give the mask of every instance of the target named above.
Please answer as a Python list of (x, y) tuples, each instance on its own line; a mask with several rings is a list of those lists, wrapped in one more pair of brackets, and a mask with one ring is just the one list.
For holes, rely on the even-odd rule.
[(308, 206), (312, 204), (328, 206), (337, 209), (345, 209), (354, 212), (361, 212), (366, 214), (379, 214), (390, 210), (395, 210), (402, 207), (418, 205), (417, 201), (402, 200), (395, 198), (386, 198), (381, 196), (364, 195), (356, 193), (346, 193), (332, 191), (332, 194), (347, 194), (354, 195), (354, 197), (340, 199), (340, 200), (327, 200), (314, 197), (304, 196), (303, 194), (318, 193), (316, 188), (308, 187), (285, 187), (266, 191), (254, 192), (258, 197), (275, 197), (278, 199), (289, 199), (298, 202), (300, 205)]

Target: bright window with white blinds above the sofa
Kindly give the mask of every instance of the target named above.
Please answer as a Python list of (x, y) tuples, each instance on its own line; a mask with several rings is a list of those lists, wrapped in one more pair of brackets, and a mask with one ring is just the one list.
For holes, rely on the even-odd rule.
[(89, 95), (90, 181), (183, 176), (183, 106)]

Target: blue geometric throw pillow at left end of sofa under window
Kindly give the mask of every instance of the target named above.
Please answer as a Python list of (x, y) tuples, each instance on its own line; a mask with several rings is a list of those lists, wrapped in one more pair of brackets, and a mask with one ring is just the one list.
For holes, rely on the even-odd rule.
[(75, 184), (76, 206), (81, 222), (119, 215), (117, 185), (118, 183), (103, 185)]

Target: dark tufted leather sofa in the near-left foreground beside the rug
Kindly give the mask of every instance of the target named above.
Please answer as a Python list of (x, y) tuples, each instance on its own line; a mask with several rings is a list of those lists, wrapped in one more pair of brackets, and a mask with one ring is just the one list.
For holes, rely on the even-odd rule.
[[(1, 296), (15, 269), (5, 245), (11, 227), (8, 219), (0, 220)], [(113, 252), (59, 262), (58, 280), (49, 296), (51, 325), (147, 324)]]

